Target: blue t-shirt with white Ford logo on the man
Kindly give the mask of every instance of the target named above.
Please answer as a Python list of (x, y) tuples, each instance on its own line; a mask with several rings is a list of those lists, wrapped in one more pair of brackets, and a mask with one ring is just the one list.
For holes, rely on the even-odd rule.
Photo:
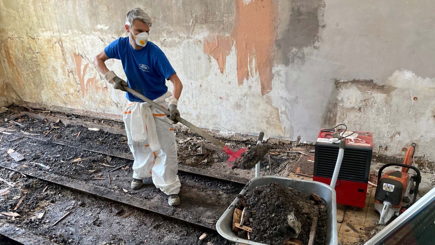
[[(165, 79), (175, 71), (156, 44), (148, 41), (144, 48), (135, 50), (131, 47), (128, 37), (120, 37), (104, 48), (104, 53), (109, 58), (121, 60), (130, 88), (151, 100), (167, 92)], [(127, 99), (144, 102), (129, 92)]]

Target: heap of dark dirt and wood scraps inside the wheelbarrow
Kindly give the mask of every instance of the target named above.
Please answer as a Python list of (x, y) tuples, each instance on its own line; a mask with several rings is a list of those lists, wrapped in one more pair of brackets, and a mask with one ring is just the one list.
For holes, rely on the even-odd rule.
[(321, 199), (313, 195), (278, 183), (255, 187), (240, 196), (238, 209), (243, 210), (243, 224), (236, 223), (233, 231), (238, 231), (241, 238), (264, 244), (283, 245), (291, 238), (306, 245), (315, 230), (311, 238), (314, 244), (325, 244), (328, 213)]

